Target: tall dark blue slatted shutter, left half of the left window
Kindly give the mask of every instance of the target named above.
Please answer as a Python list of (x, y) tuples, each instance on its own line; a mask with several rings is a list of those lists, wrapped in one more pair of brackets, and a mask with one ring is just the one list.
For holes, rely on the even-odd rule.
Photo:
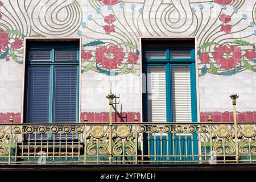
[(50, 67), (28, 67), (27, 79), (25, 122), (49, 122)]

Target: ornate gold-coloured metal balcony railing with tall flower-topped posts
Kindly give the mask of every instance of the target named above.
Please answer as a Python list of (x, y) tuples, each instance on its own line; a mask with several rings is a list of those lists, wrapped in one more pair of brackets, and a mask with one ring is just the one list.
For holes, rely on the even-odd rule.
[(220, 164), (256, 162), (256, 123), (0, 124), (0, 164)]

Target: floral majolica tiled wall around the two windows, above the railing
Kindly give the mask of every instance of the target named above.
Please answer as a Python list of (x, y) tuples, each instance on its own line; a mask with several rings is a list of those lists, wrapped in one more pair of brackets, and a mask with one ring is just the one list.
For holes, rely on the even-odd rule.
[(200, 120), (228, 121), (238, 93), (238, 121), (256, 121), (255, 16), (254, 0), (0, 1), (0, 121), (20, 121), (31, 36), (82, 37), (81, 118), (90, 122), (108, 120), (110, 82), (120, 94), (116, 120), (139, 118), (141, 36), (196, 36)]

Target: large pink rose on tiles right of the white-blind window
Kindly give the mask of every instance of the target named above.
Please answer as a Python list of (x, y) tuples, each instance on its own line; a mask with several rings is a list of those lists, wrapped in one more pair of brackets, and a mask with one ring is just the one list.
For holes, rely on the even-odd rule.
[(242, 53), (241, 49), (236, 46), (218, 46), (213, 48), (212, 53), (216, 64), (226, 70), (234, 68), (238, 63), (241, 63)]

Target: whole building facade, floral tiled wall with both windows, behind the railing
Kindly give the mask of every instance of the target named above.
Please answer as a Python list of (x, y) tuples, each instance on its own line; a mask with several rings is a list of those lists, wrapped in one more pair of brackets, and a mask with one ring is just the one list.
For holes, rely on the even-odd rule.
[[(0, 22), (3, 128), (10, 118), (13, 127), (38, 122), (107, 125), (110, 115), (113, 123), (205, 123), (209, 114), (213, 122), (234, 122), (229, 97), (233, 93), (239, 95), (237, 122), (256, 122), (254, 0), (3, 0)], [(113, 113), (106, 98), (110, 90), (116, 96)], [(36, 100), (38, 94), (42, 100)], [(232, 125), (231, 133), (239, 135), (235, 128)], [(254, 125), (248, 129), (254, 131)], [(157, 142), (154, 155), (160, 155), (156, 148), (163, 147), (161, 142), (156, 147)], [(200, 148), (198, 142), (194, 144)], [(147, 152), (151, 160), (150, 153), (151, 149)], [(192, 153), (184, 155), (196, 155)], [(168, 150), (164, 155), (169, 155)]]

